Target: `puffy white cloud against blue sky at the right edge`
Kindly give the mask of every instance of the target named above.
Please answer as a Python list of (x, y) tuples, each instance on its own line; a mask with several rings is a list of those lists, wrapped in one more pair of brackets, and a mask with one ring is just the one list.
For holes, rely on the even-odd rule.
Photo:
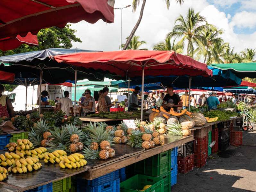
[(256, 26), (256, 13), (242, 11), (236, 13), (230, 22), (230, 25), (238, 28), (254, 28)]

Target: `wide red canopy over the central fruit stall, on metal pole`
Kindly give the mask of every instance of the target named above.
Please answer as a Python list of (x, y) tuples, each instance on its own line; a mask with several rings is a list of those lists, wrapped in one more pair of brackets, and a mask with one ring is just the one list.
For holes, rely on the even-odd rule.
[(95, 70), (101, 69), (122, 77), (141, 76), (143, 67), (145, 76), (212, 76), (212, 71), (207, 68), (206, 64), (174, 51), (81, 52), (56, 55), (53, 58), (59, 63), (65, 62)]

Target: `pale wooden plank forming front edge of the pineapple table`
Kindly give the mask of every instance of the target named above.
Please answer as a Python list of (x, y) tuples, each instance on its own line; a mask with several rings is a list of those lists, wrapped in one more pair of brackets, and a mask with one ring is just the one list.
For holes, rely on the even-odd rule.
[(117, 161), (112, 162), (112, 163), (108, 163), (106, 165), (103, 165), (103, 166), (100, 166), (100, 167), (97, 167), (97, 168), (94, 168), (94, 169), (90, 169), (87, 172), (79, 174), (78, 177), (81, 177), (83, 179), (89, 179), (89, 180), (95, 179), (95, 178), (98, 178), (102, 175), (110, 173), (112, 171), (121, 169), (123, 167), (126, 167), (128, 165), (131, 165), (131, 164), (136, 163), (138, 161), (141, 161), (143, 159), (149, 158), (153, 155), (162, 153), (164, 151), (170, 150), (170, 149), (172, 149), (176, 146), (179, 146), (181, 144), (184, 144), (184, 143), (187, 143), (187, 142), (190, 142), (190, 141), (193, 140), (192, 135), (187, 136), (187, 137), (184, 137), (184, 136), (163, 136), (163, 135), (161, 135), (161, 137), (164, 138), (164, 144), (161, 145), (161, 146), (157, 146), (157, 147), (154, 147), (152, 149), (145, 150), (141, 153), (134, 154), (134, 155), (129, 156), (129, 157), (125, 157), (123, 159), (117, 160)]

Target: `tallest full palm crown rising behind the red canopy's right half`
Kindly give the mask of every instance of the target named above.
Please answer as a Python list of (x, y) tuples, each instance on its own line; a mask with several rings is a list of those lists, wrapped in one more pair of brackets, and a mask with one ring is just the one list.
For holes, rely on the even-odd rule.
[[(176, 24), (178, 23), (178, 24)], [(195, 54), (195, 47), (201, 54), (206, 54), (207, 51), (202, 43), (202, 31), (207, 27), (206, 19), (193, 9), (189, 8), (186, 17), (180, 15), (176, 21), (173, 31), (167, 34), (167, 37), (178, 37), (181, 40), (178, 44), (183, 45), (187, 41), (187, 54), (193, 57)]]

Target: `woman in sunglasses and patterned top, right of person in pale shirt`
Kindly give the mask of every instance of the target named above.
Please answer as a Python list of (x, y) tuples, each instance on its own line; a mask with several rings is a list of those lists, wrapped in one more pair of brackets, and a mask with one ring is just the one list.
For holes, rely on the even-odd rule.
[(83, 100), (82, 103), (79, 103), (81, 106), (82, 110), (80, 110), (80, 116), (81, 112), (82, 116), (86, 116), (89, 114), (94, 114), (95, 113), (95, 99), (91, 96), (91, 91), (90, 89), (86, 89), (84, 91), (85, 99)]

